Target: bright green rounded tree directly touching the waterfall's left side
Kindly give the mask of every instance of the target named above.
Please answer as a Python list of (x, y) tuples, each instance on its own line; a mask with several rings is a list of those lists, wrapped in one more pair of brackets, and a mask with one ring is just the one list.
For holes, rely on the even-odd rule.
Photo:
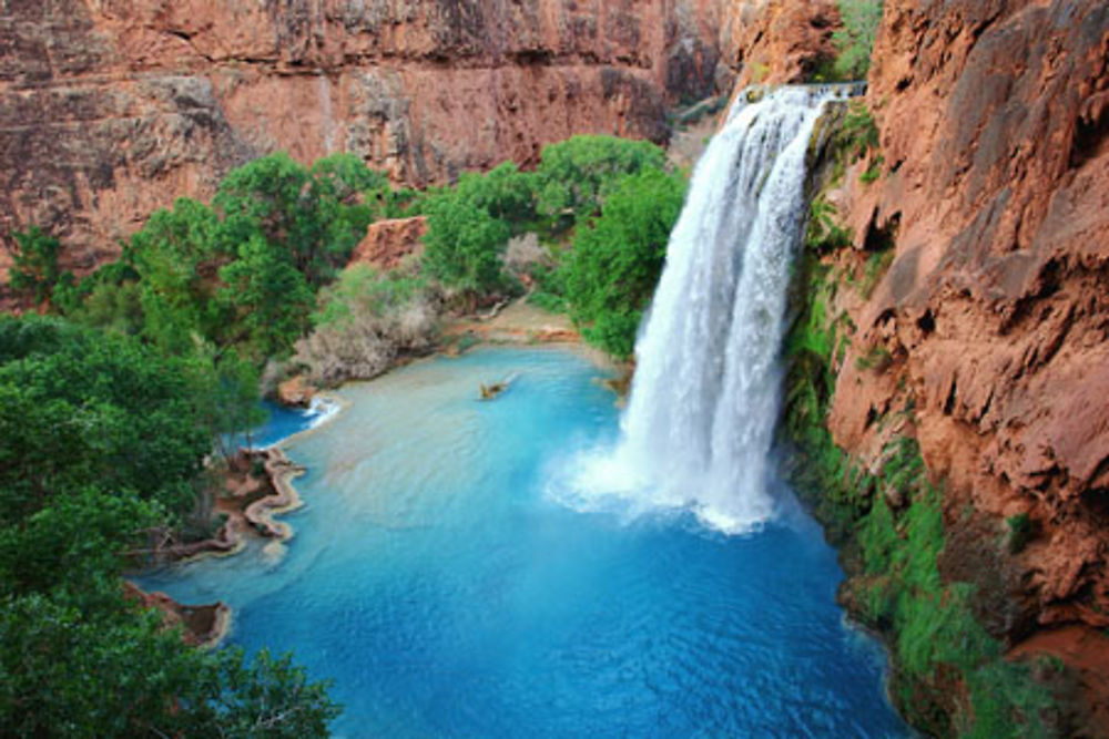
[(570, 317), (589, 341), (627, 357), (682, 209), (681, 175), (645, 170), (614, 186), (599, 218), (579, 229), (561, 268)]

